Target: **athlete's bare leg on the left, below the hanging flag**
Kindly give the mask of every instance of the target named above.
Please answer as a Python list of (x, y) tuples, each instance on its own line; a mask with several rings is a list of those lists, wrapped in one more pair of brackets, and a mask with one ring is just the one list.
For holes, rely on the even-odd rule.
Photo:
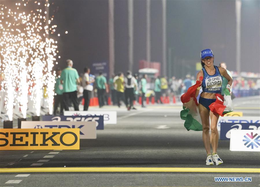
[(210, 149), (210, 136), (209, 136), (209, 110), (205, 108), (203, 105), (199, 103), (198, 105), (199, 112), (200, 112), (200, 118), (202, 122), (202, 138), (203, 138), (203, 143), (205, 146), (205, 149), (207, 151), (207, 154), (211, 154), (211, 149)]

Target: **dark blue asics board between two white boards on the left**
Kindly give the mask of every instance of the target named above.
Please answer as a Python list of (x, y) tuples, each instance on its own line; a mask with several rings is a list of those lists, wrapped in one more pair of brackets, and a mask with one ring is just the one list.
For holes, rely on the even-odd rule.
[(96, 129), (104, 129), (103, 116), (42, 116), (42, 121), (96, 121)]

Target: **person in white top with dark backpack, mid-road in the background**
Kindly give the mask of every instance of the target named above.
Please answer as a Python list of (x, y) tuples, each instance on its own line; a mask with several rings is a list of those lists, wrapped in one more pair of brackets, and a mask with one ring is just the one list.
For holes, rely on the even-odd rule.
[[(127, 76), (125, 77), (125, 103), (127, 105), (127, 110), (135, 109), (133, 107), (134, 100), (134, 88), (137, 87), (135, 77), (132, 76), (131, 71), (127, 71)], [(128, 101), (129, 99), (129, 101)]]

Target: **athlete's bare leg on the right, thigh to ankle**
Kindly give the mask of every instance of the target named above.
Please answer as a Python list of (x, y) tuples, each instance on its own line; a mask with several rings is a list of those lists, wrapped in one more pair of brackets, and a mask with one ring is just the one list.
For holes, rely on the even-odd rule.
[(217, 128), (217, 124), (218, 124), (219, 114), (214, 114), (213, 112), (210, 111), (209, 115), (210, 115), (210, 120), (211, 120), (210, 142), (211, 142), (211, 146), (212, 146), (212, 149), (213, 149), (213, 153), (216, 153), (217, 149), (218, 149), (218, 128)]

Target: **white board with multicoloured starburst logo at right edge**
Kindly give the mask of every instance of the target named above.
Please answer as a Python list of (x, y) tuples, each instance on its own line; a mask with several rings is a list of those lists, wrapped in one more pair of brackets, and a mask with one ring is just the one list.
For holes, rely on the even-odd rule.
[(260, 151), (259, 130), (231, 130), (230, 151)]

